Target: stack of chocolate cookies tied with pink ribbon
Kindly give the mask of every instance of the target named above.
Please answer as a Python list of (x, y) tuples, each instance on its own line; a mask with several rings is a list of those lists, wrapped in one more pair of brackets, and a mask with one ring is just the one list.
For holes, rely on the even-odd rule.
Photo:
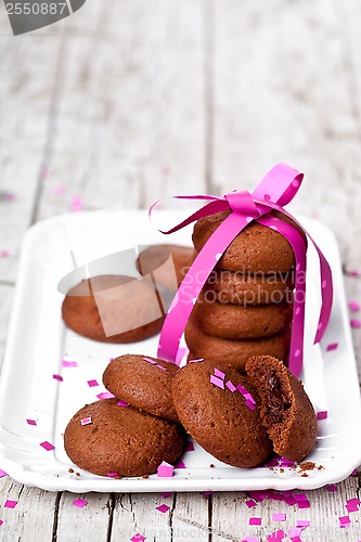
[[(197, 251), (229, 212), (195, 223)], [(275, 216), (295, 225), (283, 215)], [(252, 356), (287, 362), (294, 267), (293, 248), (281, 233), (257, 222), (247, 225), (218, 260), (194, 306), (185, 328), (189, 359), (218, 360), (238, 371)]]

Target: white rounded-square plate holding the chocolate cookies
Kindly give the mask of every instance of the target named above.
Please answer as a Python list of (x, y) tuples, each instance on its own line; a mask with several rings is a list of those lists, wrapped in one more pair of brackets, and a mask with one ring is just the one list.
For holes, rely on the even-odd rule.
[[(160, 212), (163, 222), (181, 219), (176, 211)], [(37, 223), (25, 236), (0, 384), (1, 468), (25, 485), (76, 492), (312, 489), (346, 478), (361, 463), (361, 405), (339, 254), (328, 229), (310, 218), (300, 217), (300, 221), (324, 251), (334, 276), (332, 320), (321, 347), (313, 346), (320, 306), (319, 263), (309, 247), (301, 379), (315, 411), (328, 412), (328, 417), (319, 422), (318, 442), (308, 456), (324, 468), (308, 472), (307, 477), (292, 468), (234, 468), (194, 443), (195, 451), (182, 456), (185, 468), (176, 468), (172, 478), (152, 475), (149, 479), (115, 480), (83, 470), (80, 476), (68, 472), (70, 467), (79, 470), (63, 447), (68, 420), (104, 391), (102, 373), (111, 358), (127, 352), (155, 356), (158, 337), (112, 345), (76, 335), (61, 319), (59, 282), (72, 271), (69, 285), (87, 273), (137, 276), (136, 268), (123, 269), (117, 256), (103, 257), (138, 244), (191, 244), (190, 227), (168, 237), (150, 225), (145, 211), (118, 209), (54, 217)], [(338, 348), (327, 351), (327, 345), (335, 343)], [(64, 367), (64, 359), (76, 360), (78, 366)], [(53, 374), (61, 375), (63, 382)], [(96, 379), (100, 386), (89, 387), (89, 379)], [(27, 418), (37, 425), (28, 425)], [(46, 451), (40, 447), (43, 441), (55, 449)], [(210, 468), (210, 464), (215, 466)]]

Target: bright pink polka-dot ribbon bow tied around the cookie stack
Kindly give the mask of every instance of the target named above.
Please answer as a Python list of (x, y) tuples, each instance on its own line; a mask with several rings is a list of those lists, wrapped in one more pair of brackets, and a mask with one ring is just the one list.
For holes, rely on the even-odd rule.
[[(214, 215), (215, 212), (223, 210), (231, 210), (232, 212), (220, 223), (215, 233), (205, 243), (180, 285), (160, 332), (158, 358), (177, 363), (177, 352), (181, 336), (204, 283), (234, 237), (242, 232), (246, 225), (256, 221), (284, 235), (291, 243), (295, 253), (296, 291), (288, 367), (296, 376), (300, 374), (304, 358), (307, 247), (302, 236), (293, 225), (273, 217), (270, 212), (272, 210), (278, 210), (292, 218), (309, 236), (318, 251), (321, 271), (322, 305), (314, 344), (319, 343), (327, 327), (332, 310), (333, 283), (331, 268), (313, 238), (305, 231), (299, 222), (283, 208), (284, 205), (287, 205), (295, 197), (302, 179), (304, 175), (299, 171), (291, 168), (286, 164), (279, 164), (267, 173), (253, 194), (249, 194), (247, 191), (234, 191), (230, 194), (225, 194), (223, 197), (210, 195), (175, 196), (177, 199), (206, 199), (209, 201), (209, 203), (171, 230), (162, 232), (165, 234), (176, 232), (191, 222)], [(158, 202), (150, 208), (150, 216), (157, 204)], [(193, 280), (195, 276), (197, 280)], [(204, 276), (204, 280), (199, 280), (199, 276)], [(193, 302), (190, 302), (190, 298), (193, 299)]]

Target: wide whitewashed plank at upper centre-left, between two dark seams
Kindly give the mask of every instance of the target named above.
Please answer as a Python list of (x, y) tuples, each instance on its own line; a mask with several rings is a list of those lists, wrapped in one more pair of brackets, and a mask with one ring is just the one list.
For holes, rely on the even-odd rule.
[(65, 44), (40, 217), (205, 189), (201, 4), (113, 3), (101, 30)]

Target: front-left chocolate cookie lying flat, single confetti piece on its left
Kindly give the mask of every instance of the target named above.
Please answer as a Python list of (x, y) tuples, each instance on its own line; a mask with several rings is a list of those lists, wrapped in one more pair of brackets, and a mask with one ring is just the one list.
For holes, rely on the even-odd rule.
[[(156, 473), (163, 461), (175, 462), (183, 449), (179, 424), (104, 399), (80, 409), (64, 433), (65, 451), (78, 467), (107, 476)], [(81, 420), (91, 423), (81, 425)]]

